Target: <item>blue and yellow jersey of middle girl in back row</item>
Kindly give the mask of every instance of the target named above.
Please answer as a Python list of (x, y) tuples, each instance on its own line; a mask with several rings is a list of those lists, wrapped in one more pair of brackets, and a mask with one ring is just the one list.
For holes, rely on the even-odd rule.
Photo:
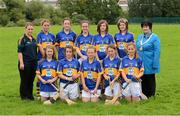
[(83, 34), (79, 35), (75, 41), (75, 46), (78, 47), (81, 51), (81, 54), (87, 56), (86, 50), (88, 46), (93, 43), (93, 35), (89, 34), (84, 36)]

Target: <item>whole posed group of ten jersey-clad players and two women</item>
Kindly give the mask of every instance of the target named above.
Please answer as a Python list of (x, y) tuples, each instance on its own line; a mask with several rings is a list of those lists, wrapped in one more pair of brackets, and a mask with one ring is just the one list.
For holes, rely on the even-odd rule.
[(95, 35), (87, 20), (81, 21), (78, 34), (71, 25), (65, 18), (54, 35), (49, 32), (51, 22), (43, 19), (42, 30), (33, 37), (33, 24), (26, 23), (17, 47), (22, 100), (34, 100), (33, 83), (43, 104), (60, 99), (69, 105), (77, 100), (117, 105), (121, 99), (138, 102), (155, 96), (160, 39), (151, 21), (141, 22), (137, 39), (125, 18), (117, 21), (115, 35), (109, 33), (106, 20), (98, 22)]

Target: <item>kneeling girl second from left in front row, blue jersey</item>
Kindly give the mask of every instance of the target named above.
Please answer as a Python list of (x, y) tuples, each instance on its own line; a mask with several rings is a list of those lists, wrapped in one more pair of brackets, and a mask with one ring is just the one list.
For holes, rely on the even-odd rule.
[[(59, 61), (58, 75), (60, 77), (60, 98), (66, 101), (77, 100), (79, 97), (79, 85), (77, 79), (80, 77), (79, 62), (73, 58), (74, 49), (72, 46), (66, 46), (65, 58)], [(66, 84), (68, 86), (65, 88)]]

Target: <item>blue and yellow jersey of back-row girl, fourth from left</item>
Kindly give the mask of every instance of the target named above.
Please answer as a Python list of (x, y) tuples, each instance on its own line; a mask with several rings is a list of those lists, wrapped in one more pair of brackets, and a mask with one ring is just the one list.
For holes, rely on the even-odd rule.
[(106, 47), (109, 44), (115, 44), (115, 41), (110, 34), (106, 34), (104, 37), (101, 34), (94, 36), (93, 45), (96, 47), (97, 54), (100, 60), (106, 57)]

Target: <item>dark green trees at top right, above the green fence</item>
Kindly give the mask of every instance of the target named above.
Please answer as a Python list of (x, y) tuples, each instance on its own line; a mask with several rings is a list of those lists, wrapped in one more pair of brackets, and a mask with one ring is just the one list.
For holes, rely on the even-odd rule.
[(180, 0), (129, 0), (130, 17), (180, 16)]

